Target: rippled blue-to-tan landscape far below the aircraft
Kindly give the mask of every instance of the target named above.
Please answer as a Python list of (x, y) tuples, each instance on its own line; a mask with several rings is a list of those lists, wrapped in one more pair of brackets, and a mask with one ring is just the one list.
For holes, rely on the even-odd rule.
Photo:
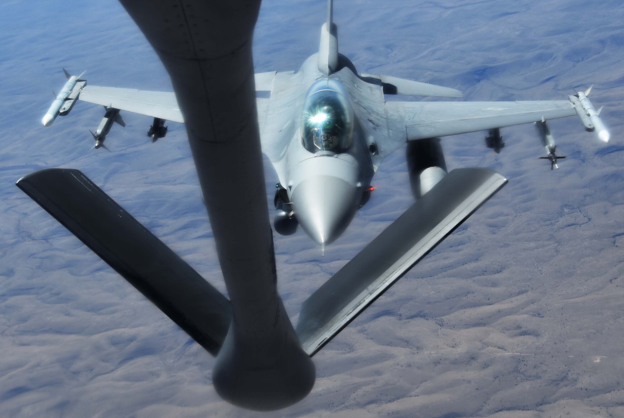
[[(256, 71), (298, 69), (325, 7), (265, 1)], [(482, 133), (444, 139), (449, 168), (492, 168), (509, 185), (315, 356), (313, 392), (276, 416), (624, 415), (623, 15), (615, 0), (336, 1), (339, 49), (359, 71), (467, 100), (563, 99), (595, 84), (612, 142), (553, 121), (568, 158), (551, 172), (530, 125), (502, 130), (500, 155)], [(152, 144), (150, 119), (124, 114), (107, 153), (89, 151), (98, 106), (39, 122), (62, 67), (94, 85), (170, 90), (154, 51), (112, 0), (4, 1), (0, 28), (1, 415), (253, 416), (215, 394), (209, 354), (14, 186), (79, 168), (223, 289), (182, 125)], [(324, 258), (301, 231), (275, 237), (291, 316), (411, 205), (408, 183), (399, 150)]]

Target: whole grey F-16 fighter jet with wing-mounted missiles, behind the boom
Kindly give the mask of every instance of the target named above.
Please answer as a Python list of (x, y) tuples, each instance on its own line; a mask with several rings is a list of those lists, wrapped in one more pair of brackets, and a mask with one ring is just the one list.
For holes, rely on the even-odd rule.
[[(74, 83), (74, 89), (63, 89), (69, 92), (68, 100), (154, 117), (150, 129), (153, 139), (164, 136), (154, 132), (163, 120), (184, 122), (173, 93), (90, 86), (77, 79)], [(338, 52), (331, 2), (328, 20), (321, 28), (319, 52), (297, 72), (255, 74), (255, 87), (256, 91), (270, 92), (268, 98), (256, 99), (256, 105), (262, 151), (279, 180), (275, 230), (289, 235), (301, 225), (322, 246), (341, 235), (368, 200), (371, 180), (381, 162), (406, 141), (420, 142), (419, 153), (429, 155), (415, 163), (417, 176), (412, 177), (412, 187), (423, 195), (447, 173), (441, 147), (432, 140), (437, 137), (490, 130), (487, 144), (500, 152), (504, 146), (500, 127), (536, 122), (547, 153), (543, 158), (548, 158), (553, 168), (558, 168), (556, 146), (546, 127), (547, 120), (578, 115), (588, 130), (595, 130), (604, 142), (609, 139), (599, 112), (583, 92), (555, 101), (386, 102), (389, 94), (463, 94), (388, 75), (359, 73)], [(58, 100), (45, 115), (44, 125), (49, 126), (56, 117)], [(110, 120), (110, 116), (105, 119)], [(110, 124), (102, 126), (110, 129)], [(102, 140), (107, 133), (105, 130), (100, 135)]]

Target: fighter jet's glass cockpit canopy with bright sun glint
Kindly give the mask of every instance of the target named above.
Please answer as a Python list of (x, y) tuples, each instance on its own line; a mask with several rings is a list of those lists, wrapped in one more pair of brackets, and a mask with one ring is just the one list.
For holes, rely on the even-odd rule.
[(341, 153), (349, 148), (353, 109), (338, 80), (319, 80), (308, 90), (301, 128), (303, 146), (310, 152)]

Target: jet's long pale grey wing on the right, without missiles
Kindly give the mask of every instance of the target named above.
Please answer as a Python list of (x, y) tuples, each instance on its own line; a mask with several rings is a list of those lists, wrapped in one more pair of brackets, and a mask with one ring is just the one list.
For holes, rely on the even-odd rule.
[(407, 140), (444, 137), (577, 114), (569, 100), (537, 102), (386, 102)]

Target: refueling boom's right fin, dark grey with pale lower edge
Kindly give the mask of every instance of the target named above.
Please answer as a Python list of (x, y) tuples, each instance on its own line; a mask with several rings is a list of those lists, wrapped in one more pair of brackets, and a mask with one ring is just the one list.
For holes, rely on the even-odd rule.
[(450, 172), (306, 299), (296, 327), (303, 349), (316, 354), (505, 183), (484, 168)]

